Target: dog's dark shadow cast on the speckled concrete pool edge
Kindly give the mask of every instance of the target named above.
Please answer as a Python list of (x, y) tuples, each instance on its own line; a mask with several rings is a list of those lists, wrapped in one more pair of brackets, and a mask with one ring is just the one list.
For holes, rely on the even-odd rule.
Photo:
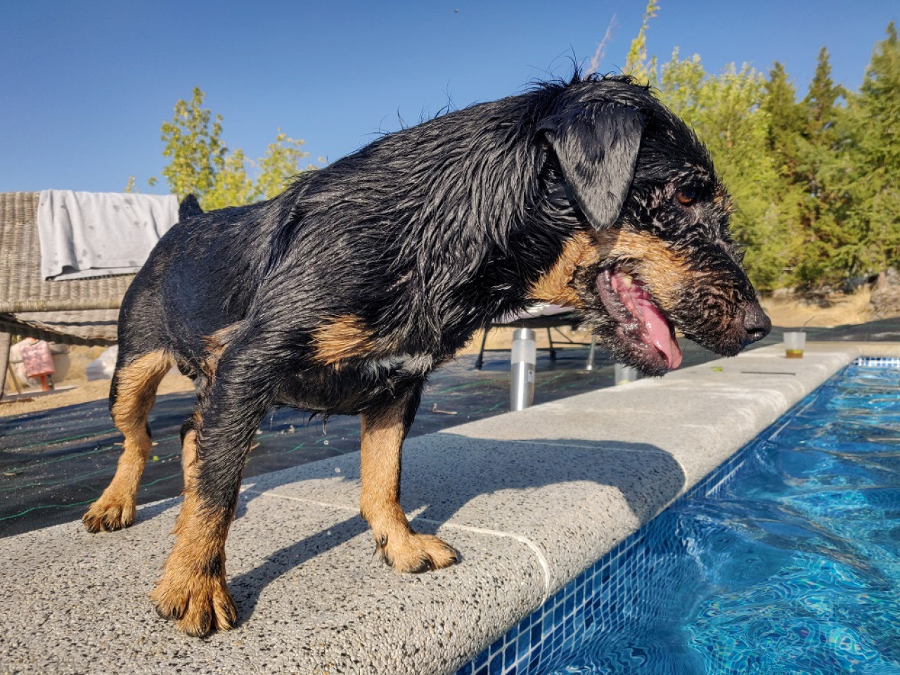
[[(434, 445), (438, 447), (429, 451), (429, 446)], [(421, 531), (433, 532), (457, 513), (460, 514), (459, 524), (465, 525), (466, 505), (480, 497), (483, 502), (483, 496), (491, 493), (529, 491), (571, 482), (593, 482), (615, 488), (635, 518), (646, 522), (674, 499), (686, 482), (678, 461), (661, 448), (648, 444), (583, 439), (559, 439), (548, 444), (546, 440), (488, 441), (438, 434), (423, 439), (419, 447), (418, 451), (414, 449), (404, 454), (401, 503), (407, 513), (415, 512), (412, 526)], [(354, 459), (356, 469), (342, 464), (341, 476), (343, 480), (358, 483), (358, 455)], [(312, 465), (301, 467), (300, 475), (297, 471), (286, 470), (261, 477), (256, 486), (243, 494), (238, 518), (247, 512), (247, 503), (260, 496), (262, 491), (298, 482), (301, 476), (308, 480), (333, 479), (334, 467), (320, 464), (321, 469)], [(302, 497), (302, 481), (298, 483), (298, 489), (298, 496)], [(579, 488), (573, 486), (573, 491), (577, 490)], [(584, 497), (573, 498), (572, 504), (577, 505), (579, 499), (584, 505)], [(518, 500), (498, 501), (497, 509), (491, 506), (489, 511), (482, 504), (473, 511), (497, 513), (498, 523), (485, 524), (482, 516), (478, 527), (503, 530), (516, 526), (521, 511), (528, 510), (529, 503), (527, 496), (521, 496)], [(538, 507), (537, 501), (535, 506)], [(503, 513), (503, 509), (507, 509), (507, 513)], [(521, 515), (532, 522), (536, 519), (534, 513)], [(575, 514), (575, 517), (583, 518), (584, 514)], [(272, 581), (366, 531), (365, 520), (358, 515), (351, 516), (275, 551), (264, 563), (231, 579), (229, 587), (238, 602), (238, 624), (252, 616), (260, 593)], [(453, 544), (452, 534), (445, 536)], [(460, 554), (464, 557), (465, 551)], [(385, 571), (388, 572), (387, 568)]]

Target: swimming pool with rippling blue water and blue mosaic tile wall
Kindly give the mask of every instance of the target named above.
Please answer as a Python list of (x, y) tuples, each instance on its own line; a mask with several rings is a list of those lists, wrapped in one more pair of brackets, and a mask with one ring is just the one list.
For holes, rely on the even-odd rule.
[(833, 377), (459, 672), (900, 673), (898, 366)]

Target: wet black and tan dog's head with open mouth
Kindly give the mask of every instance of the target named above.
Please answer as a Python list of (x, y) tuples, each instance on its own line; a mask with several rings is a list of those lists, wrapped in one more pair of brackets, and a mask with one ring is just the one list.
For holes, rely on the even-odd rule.
[[(729, 236), (732, 205), (706, 148), (627, 78), (561, 89), (538, 125), (557, 202), (580, 221), (531, 297), (581, 308), (617, 358), (677, 367), (675, 329), (734, 356), (769, 318)], [(559, 208), (559, 207), (558, 207)]]

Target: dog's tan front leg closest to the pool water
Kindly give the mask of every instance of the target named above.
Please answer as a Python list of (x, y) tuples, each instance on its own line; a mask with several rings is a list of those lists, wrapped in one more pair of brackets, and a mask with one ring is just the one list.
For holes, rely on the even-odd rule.
[(363, 413), (360, 510), (375, 547), (399, 572), (425, 572), (456, 562), (456, 551), (410, 527), (400, 505), (401, 448), (419, 407), (419, 389), (379, 410)]

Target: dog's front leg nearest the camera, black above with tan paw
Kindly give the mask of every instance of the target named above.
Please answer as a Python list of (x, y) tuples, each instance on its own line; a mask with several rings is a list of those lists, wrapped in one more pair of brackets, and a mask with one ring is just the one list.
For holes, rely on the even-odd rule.
[(188, 635), (228, 630), (237, 621), (225, 577), (225, 538), (250, 444), (272, 401), (264, 389), (248, 368), (220, 364), (184, 434), (184, 504), (151, 598), (157, 614), (175, 619)]

